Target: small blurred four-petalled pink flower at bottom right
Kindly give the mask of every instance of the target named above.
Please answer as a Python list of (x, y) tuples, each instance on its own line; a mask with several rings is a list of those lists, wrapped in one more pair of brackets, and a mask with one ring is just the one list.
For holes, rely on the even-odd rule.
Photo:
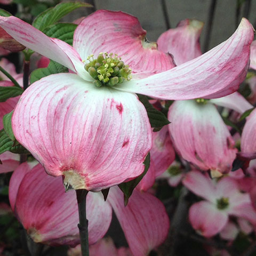
[(215, 183), (199, 171), (190, 171), (182, 182), (194, 194), (205, 199), (189, 209), (189, 221), (201, 235), (211, 237), (218, 234), (227, 225), (230, 215), (256, 224), (256, 212), (250, 196), (241, 193), (237, 180), (223, 177)]

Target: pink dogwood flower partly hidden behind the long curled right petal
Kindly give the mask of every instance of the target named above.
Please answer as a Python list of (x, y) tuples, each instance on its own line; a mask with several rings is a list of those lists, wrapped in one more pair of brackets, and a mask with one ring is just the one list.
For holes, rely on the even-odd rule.
[[(177, 65), (182, 65), (202, 54), (199, 36), (203, 22), (183, 20), (177, 28), (170, 29), (158, 38), (159, 49), (171, 52)], [(244, 113), (252, 108), (237, 92), (226, 97), (175, 101), (169, 110), (169, 131), (175, 149), (187, 161), (212, 175), (231, 170), (237, 149), (227, 126), (212, 104), (232, 108)]]

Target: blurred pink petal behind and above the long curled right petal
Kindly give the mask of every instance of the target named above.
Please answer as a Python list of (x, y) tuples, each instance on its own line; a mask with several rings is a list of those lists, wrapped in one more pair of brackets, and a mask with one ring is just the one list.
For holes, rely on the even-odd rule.
[(158, 49), (173, 55), (176, 65), (180, 65), (202, 54), (199, 37), (204, 22), (182, 20), (176, 28), (165, 31), (157, 39)]

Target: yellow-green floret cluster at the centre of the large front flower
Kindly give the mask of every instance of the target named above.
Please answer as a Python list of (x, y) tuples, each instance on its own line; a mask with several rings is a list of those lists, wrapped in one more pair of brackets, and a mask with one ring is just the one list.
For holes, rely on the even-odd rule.
[(95, 79), (93, 84), (97, 87), (102, 85), (114, 86), (132, 78), (132, 70), (128, 65), (124, 65), (117, 54), (113, 56), (113, 53), (105, 52), (100, 53), (97, 59), (90, 55), (87, 60), (90, 62), (86, 63), (84, 68)]

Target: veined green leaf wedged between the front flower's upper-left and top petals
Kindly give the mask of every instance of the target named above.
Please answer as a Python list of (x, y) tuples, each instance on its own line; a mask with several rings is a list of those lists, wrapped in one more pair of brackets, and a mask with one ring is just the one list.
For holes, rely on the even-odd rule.
[(49, 37), (58, 38), (70, 45), (73, 44), (74, 31), (77, 25), (73, 23), (56, 23), (43, 30)]

